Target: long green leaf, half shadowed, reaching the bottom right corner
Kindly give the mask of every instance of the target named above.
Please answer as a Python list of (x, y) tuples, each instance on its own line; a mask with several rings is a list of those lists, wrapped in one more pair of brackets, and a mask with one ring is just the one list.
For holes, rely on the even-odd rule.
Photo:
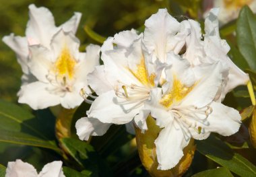
[(256, 167), (214, 136), (197, 141), (197, 150), (239, 176), (256, 176)]

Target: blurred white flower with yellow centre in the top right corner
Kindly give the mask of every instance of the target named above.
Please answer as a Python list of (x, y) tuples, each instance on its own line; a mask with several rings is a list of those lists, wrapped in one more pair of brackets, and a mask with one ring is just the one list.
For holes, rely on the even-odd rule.
[(256, 12), (255, 0), (214, 0), (213, 6), (220, 7), (218, 19), (221, 24), (226, 24), (238, 17), (239, 11), (244, 5), (248, 5), (253, 12)]

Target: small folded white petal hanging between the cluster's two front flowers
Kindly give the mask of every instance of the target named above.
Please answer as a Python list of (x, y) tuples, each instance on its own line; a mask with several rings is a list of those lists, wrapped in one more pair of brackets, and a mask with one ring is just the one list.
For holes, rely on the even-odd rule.
[(139, 110), (139, 114), (137, 114), (134, 118), (134, 122), (141, 129), (141, 132), (144, 133), (146, 130), (148, 130), (147, 125), (147, 118), (150, 114), (150, 110)]

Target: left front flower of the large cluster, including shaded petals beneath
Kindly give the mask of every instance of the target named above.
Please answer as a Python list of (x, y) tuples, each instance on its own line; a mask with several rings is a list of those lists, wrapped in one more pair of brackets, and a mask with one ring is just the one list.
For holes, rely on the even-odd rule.
[(88, 118), (77, 121), (77, 135), (80, 139), (102, 135), (111, 124), (127, 124), (133, 118), (138, 127), (147, 129), (145, 120), (150, 112), (141, 108), (152, 87), (158, 85), (160, 65), (152, 63), (152, 56), (143, 50), (141, 37), (133, 30), (108, 38), (102, 46), (102, 61), (104, 65), (88, 76), (98, 97), (87, 112)]

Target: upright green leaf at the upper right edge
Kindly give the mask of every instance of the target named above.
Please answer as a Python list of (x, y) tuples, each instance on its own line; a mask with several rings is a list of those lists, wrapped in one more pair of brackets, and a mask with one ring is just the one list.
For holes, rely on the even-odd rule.
[(248, 6), (241, 9), (236, 28), (238, 48), (251, 69), (256, 70), (256, 19)]

